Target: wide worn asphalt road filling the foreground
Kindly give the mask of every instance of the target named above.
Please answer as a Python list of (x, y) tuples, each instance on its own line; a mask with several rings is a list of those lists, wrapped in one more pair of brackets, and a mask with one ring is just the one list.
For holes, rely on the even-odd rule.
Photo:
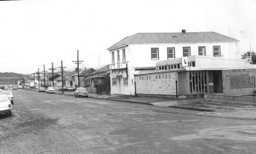
[[(255, 153), (254, 120), (198, 111), (14, 91), (0, 153)], [(241, 132), (242, 131), (242, 132)]]

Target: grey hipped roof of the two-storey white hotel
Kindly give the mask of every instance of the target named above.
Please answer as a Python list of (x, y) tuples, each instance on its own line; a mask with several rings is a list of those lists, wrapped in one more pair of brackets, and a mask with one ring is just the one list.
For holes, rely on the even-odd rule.
[(110, 46), (108, 50), (130, 44), (155, 44), (155, 43), (190, 43), (190, 42), (237, 42), (228, 36), (217, 32), (172, 32), (172, 33), (137, 33), (122, 39)]

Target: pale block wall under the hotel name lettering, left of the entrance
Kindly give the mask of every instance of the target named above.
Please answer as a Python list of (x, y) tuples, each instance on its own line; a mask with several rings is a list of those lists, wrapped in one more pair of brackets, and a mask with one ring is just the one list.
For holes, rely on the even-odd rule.
[(176, 73), (157, 72), (135, 75), (137, 94), (176, 95)]

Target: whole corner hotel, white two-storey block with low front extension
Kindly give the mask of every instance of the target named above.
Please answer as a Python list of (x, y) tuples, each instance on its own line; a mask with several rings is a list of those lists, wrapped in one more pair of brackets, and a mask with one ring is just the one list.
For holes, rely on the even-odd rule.
[(252, 95), (255, 67), (217, 32), (137, 33), (109, 47), (111, 94)]

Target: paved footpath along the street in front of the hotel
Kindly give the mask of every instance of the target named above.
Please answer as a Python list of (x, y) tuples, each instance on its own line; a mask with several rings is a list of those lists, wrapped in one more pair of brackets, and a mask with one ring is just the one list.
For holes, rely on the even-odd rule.
[[(60, 95), (74, 95), (74, 92), (64, 92), (63, 94), (62, 92), (57, 93)], [(256, 105), (234, 105), (227, 102), (211, 102), (206, 101), (204, 98), (166, 99), (156, 97), (137, 97), (133, 95), (98, 95), (93, 93), (89, 93), (89, 98), (157, 105), (160, 107), (178, 109), (190, 109), (195, 111), (194, 115), (217, 116), (230, 119), (256, 119)]]

